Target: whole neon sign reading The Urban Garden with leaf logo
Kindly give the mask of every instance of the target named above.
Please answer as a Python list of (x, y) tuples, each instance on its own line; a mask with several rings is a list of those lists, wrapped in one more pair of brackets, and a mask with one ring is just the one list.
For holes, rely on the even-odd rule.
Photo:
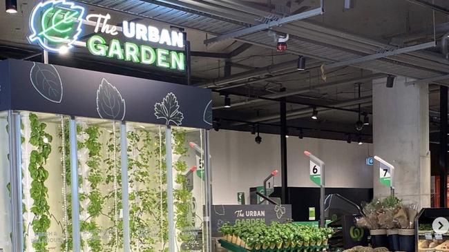
[[(126, 20), (122, 22), (122, 27), (112, 26), (108, 23), (111, 19), (110, 14), (88, 14), (84, 19), (84, 12), (82, 6), (66, 0), (39, 3), (30, 16), (32, 34), (28, 39), (37, 42), (44, 50), (50, 52), (66, 52), (74, 45), (86, 46), (91, 54), (97, 56), (164, 68), (185, 69), (183, 52), (151, 46), (160, 44), (184, 48), (182, 32)], [(95, 34), (90, 36), (85, 44), (77, 41), (83, 25), (95, 26)], [(130, 41), (104, 39), (104, 35), (116, 37), (120, 32)]]

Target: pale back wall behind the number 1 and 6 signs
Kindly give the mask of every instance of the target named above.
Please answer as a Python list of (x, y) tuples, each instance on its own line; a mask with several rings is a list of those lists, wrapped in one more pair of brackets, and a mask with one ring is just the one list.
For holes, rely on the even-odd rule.
[[(237, 193), (245, 192), (249, 202), (249, 187), (262, 186), (262, 181), (274, 169), (280, 171), (280, 139), (278, 135), (262, 134), (262, 144), (246, 132), (211, 130), (213, 204), (237, 204)], [(289, 186), (313, 187), (309, 181), (307, 150), (326, 163), (328, 187), (372, 188), (374, 166), (365, 164), (372, 155), (372, 144), (347, 144), (345, 141), (289, 137)], [(280, 186), (280, 173), (275, 186)]]

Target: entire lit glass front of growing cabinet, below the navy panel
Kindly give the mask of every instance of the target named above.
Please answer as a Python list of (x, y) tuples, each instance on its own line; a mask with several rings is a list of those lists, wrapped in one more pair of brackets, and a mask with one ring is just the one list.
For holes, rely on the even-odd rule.
[[(23, 251), (209, 251), (205, 130), (28, 112), (19, 119)], [(0, 115), (3, 142), (15, 138), (7, 125)], [(8, 190), (1, 192), (0, 249), (17, 251), (14, 207)]]

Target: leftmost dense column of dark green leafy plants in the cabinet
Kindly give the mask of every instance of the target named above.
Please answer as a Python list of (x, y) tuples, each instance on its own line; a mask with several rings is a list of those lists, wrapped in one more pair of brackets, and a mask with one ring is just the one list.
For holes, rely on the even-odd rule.
[(47, 202), (48, 188), (45, 185), (48, 179), (48, 171), (44, 168), (51, 153), (52, 136), (46, 133), (46, 124), (39, 122), (37, 115), (30, 113), (31, 133), (29, 142), (36, 150), (30, 153), (30, 164), (28, 171), (32, 178), (30, 195), (34, 200), (30, 211), (35, 215), (32, 220), (32, 230), (37, 235), (37, 239), (32, 243), (37, 252), (48, 251), (47, 230), (50, 228), (50, 206)]

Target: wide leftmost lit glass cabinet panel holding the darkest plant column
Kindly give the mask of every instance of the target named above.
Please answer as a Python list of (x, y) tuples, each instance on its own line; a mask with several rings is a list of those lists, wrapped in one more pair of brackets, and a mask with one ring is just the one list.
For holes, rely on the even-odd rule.
[(24, 251), (70, 250), (70, 159), (66, 117), (21, 113)]

